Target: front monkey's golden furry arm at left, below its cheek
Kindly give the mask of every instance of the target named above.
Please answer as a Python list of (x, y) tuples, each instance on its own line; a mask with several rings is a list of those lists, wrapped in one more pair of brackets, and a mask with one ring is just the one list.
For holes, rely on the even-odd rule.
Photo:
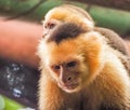
[[(42, 79), (40, 79), (40, 101), (39, 101), (39, 109), (40, 110), (61, 110), (62, 107), (62, 99), (63, 95), (61, 93), (61, 90), (57, 87), (57, 85), (47, 77), (46, 72), (41, 75)], [(41, 105), (43, 104), (43, 105)], [(56, 105), (56, 106), (55, 106)]]

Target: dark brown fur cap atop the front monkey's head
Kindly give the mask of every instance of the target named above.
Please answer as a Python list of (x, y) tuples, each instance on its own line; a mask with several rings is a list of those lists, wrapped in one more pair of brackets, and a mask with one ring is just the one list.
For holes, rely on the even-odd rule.
[(57, 26), (50, 35), (48, 42), (54, 41), (56, 43), (66, 39), (76, 38), (78, 35), (84, 32), (82, 28), (75, 24), (64, 23)]

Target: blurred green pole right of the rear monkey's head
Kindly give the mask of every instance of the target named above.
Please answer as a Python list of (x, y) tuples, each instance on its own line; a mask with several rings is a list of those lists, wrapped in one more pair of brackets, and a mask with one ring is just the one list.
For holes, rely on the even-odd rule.
[(130, 32), (130, 12), (90, 5), (88, 12), (100, 27), (110, 28), (121, 36)]

